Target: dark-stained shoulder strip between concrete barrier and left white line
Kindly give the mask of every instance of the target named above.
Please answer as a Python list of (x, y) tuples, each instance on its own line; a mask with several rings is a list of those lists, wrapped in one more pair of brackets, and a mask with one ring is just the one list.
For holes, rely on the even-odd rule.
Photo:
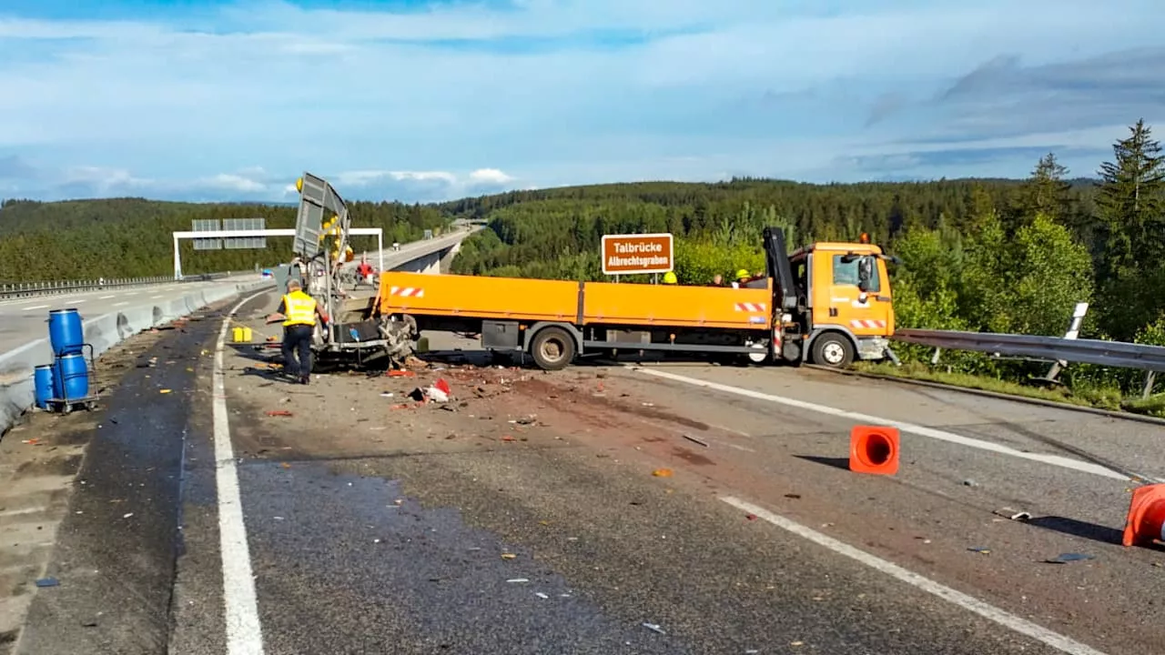
[[(167, 334), (147, 354), (197, 354), (213, 326)], [(105, 415), (90, 434), (45, 572), (61, 585), (37, 590), (19, 653), (165, 652), (179, 469), (196, 381), (185, 368), (127, 368), (104, 399)]]

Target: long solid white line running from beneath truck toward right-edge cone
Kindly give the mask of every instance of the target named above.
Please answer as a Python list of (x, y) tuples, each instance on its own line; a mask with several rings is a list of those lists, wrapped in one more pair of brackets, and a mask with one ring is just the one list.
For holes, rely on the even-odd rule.
[[(772, 394), (765, 394), (762, 392), (754, 392), (751, 389), (742, 389), (740, 387), (733, 387), (729, 385), (721, 385), (719, 382), (709, 382), (707, 380), (700, 380), (698, 378), (689, 378), (686, 375), (677, 375), (675, 373), (668, 373), (665, 371), (651, 371), (649, 368), (636, 367), (634, 371), (641, 373), (647, 373), (648, 375), (655, 375), (657, 378), (664, 378), (668, 380), (676, 380), (677, 382), (686, 382), (689, 385), (694, 385), (698, 387), (706, 387), (709, 389), (716, 389), (718, 392), (725, 392), (729, 394), (736, 394), (741, 396), (747, 396), (756, 400), (764, 400), (769, 402), (776, 402), (779, 404), (785, 404), (789, 407), (796, 407), (798, 409), (807, 409), (810, 411), (817, 411), (819, 414), (827, 414), (829, 416), (836, 416), (839, 418), (849, 418), (859, 423), (873, 423), (878, 425), (892, 425), (903, 432), (911, 432), (922, 437), (930, 437), (932, 439), (938, 439), (942, 442), (949, 442), (953, 444), (977, 448), (980, 450), (986, 450), (990, 452), (997, 452), (1000, 455), (1008, 455), (1019, 459), (1030, 459), (1032, 462), (1042, 462), (1044, 464), (1051, 464), (1053, 466), (1061, 466), (1064, 469), (1071, 469), (1073, 471), (1080, 471), (1082, 473), (1092, 473), (1094, 476), (1101, 476), (1103, 478), (1111, 478), (1114, 480), (1125, 480), (1130, 478), (1124, 473), (1118, 473), (1113, 471), (1107, 466), (1101, 466), (1100, 464), (1093, 464), (1090, 462), (1081, 462), (1079, 459), (1072, 459), (1069, 457), (1061, 457), (1059, 455), (1043, 455), (1038, 452), (1024, 452), (1022, 450), (1016, 450), (1005, 445), (1001, 445), (993, 442), (984, 442), (982, 439), (973, 439), (970, 437), (965, 437), (962, 435), (956, 435), (954, 432), (947, 432), (946, 430), (937, 430), (934, 428), (926, 428), (925, 425), (916, 425), (913, 423), (906, 423), (903, 421), (894, 421), (891, 418), (882, 418), (880, 416), (871, 416), (869, 414), (861, 414), (857, 411), (847, 411), (845, 409), (838, 409), (834, 407), (828, 407), (825, 404), (817, 404), (814, 402), (806, 402), (803, 400), (796, 400), (784, 396), (777, 396)], [(1151, 478), (1145, 478), (1153, 481)]]

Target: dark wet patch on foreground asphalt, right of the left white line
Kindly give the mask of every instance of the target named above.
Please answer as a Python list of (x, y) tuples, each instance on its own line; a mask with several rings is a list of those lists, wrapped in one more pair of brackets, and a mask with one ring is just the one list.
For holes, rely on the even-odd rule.
[(690, 653), (396, 483), (278, 463), (240, 481), (268, 653)]

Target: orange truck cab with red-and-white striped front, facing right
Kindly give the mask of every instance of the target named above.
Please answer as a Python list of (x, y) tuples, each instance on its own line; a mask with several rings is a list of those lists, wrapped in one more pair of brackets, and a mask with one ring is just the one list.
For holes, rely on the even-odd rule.
[(864, 235), (861, 242), (818, 242), (789, 255), (797, 296), (790, 318), (810, 361), (843, 367), (855, 359), (894, 358), (887, 260), (892, 258)]

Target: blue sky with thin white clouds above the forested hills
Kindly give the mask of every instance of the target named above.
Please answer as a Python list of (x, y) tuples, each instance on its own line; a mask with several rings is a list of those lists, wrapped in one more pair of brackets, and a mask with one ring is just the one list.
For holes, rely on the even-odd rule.
[(1160, 0), (5, 0), (0, 197), (1093, 175)]

